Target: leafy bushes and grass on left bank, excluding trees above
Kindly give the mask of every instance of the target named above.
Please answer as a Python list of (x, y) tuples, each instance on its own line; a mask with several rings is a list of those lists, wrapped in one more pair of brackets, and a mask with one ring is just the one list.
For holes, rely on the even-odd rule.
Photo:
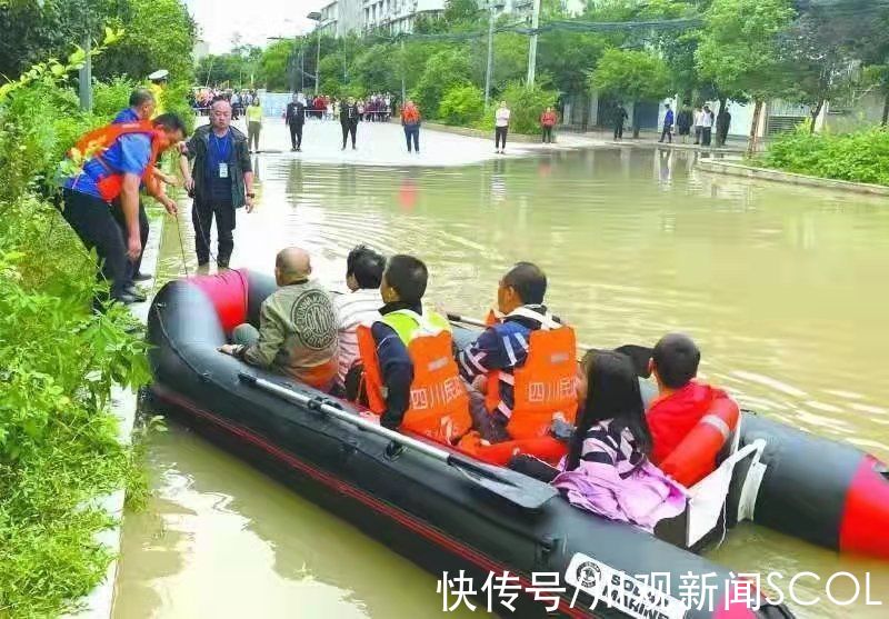
[[(42, 198), (76, 138), (107, 122), (78, 110), (73, 68), (49, 63), (0, 88), (2, 616), (60, 615), (103, 578), (111, 557), (96, 533), (111, 520), (93, 501), (133, 470), (110, 387), (149, 378), (126, 309), (91, 311), (94, 256)], [(103, 104), (120, 91), (102, 89)]]

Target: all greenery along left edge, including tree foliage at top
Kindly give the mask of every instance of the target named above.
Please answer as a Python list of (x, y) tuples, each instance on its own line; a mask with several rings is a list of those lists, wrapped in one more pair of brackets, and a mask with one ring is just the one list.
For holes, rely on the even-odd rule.
[[(86, 31), (76, 29), (80, 18), (69, 4), (90, 9)], [(148, 381), (146, 343), (124, 308), (91, 311), (106, 284), (56, 204), (66, 151), (126, 108), (146, 68), (162, 62), (140, 47), (144, 28), (122, 27), (164, 4), (0, 2), (0, 72), (20, 76), (0, 81), (0, 617), (72, 610), (112, 559), (96, 541), (113, 526), (97, 500), (123, 487), (137, 506), (144, 499), (143, 450), (118, 441), (110, 393), (112, 385)], [(122, 17), (109, 12), (127, 7)], [(191, 52), (193, 24), (182, 19), (164, 28), (188, 37), (159, 37), (162, 53)], [(92, 112), (80, 109), (74, 88), (87, 59), (77, 32), (92, 39), (93, 74), (103, 80), (93, 84)], [(188, 88), (193, 76), (182, 79)], [(169, 107), (184, 108), (180, 100)]]

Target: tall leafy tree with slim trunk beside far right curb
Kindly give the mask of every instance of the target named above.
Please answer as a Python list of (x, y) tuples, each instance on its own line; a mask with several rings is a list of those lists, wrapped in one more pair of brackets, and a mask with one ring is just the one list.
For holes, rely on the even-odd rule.
[(763, 101), (787, 91), (777, 38), (792, 18), (789, 0), (713, 0), (705, 13), (695, 60), (720, 92), (743, 93), (755, 101), (749, 154), (756, 151)]

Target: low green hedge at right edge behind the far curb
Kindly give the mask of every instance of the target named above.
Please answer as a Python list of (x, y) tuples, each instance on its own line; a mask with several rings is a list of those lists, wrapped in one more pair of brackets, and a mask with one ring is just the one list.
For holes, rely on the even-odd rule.
[(889, 131), (812, 134), (800, 127), (776, 138), (758, 162), (801, 174), (889, 186)]

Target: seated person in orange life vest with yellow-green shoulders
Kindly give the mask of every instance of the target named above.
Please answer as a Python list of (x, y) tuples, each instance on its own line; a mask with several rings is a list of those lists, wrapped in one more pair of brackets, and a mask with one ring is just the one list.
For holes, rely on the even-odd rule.
[(381, 318), (358, 328), (368, 405), (389, 429), (453, 442), (471, 427), (466, 388), (453, 360), (450, 325), (424, 310), (428, 271), (393, 256), (382, 276)]

